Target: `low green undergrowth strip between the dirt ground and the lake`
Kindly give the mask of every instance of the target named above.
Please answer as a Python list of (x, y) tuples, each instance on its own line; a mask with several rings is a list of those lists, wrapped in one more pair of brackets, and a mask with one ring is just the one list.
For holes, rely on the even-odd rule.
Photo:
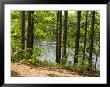
[[(37, 50), (37, 52), (36, 52)], [(82, 60), (82, 58), (78, 59), (78, 63), (77, 64), (67, 64), (67, 58), (62, 58), (61, 59), (61, 63), (55, 63), (55, 62), (49, 62), (47, 60), (41, 61), (39, 59), (36, 58), (36, 54), (39, 55), (39, 51), (41, 51), (41, 49), (34, 49), (33, 54), (32, 54), (32, 49), (26, 49), (26, 50), (17, 50), (17, 52), (14, 52), (11, 55), (11, 60), (14, 62), (21, 62), (24, 64), (28, 64), (28, 65), (33, 65), (36, 67), (42, 66), (42, 67), (51, 67), (51, 68), (62, 68), (62, 69), (66, 69), (66, 70), (70, 70), (70, 71), (76, 71), (80, 74), (91, 74), (94, 76), (94, 74), (96, 76), (100, 76), (100, 71), (99, 70), (95, 70), (95, 67), (93, 65), (92, 70), (88, 69), (89, 63), (87, 59)]]

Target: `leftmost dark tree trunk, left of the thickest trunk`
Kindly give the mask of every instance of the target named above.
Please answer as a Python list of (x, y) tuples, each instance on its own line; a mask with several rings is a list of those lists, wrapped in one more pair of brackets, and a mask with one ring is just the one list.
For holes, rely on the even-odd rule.
[(21, 12), (21, 48), (25, 49), (25, 11)]

